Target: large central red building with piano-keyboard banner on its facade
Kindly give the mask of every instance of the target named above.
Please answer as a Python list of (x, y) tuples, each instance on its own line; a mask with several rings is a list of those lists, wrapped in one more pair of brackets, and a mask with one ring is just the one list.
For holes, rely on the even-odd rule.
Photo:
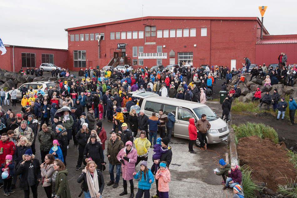
[(143, 17), (68, 28), (68, 66), (124, 62), (138, 68), (188, 61), (194, 67), (238, 68), (244, 57), (255, 62), (259, 28), (257, 17)]

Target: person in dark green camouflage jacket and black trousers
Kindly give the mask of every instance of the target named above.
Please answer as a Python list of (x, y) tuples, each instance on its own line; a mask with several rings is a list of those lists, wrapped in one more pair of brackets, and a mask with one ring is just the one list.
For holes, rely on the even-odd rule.
[(56, 138), (56, 133), (46, 124), (43, 124), (41, 128), (42, 130), (39, 132), (38, 140), (40, 142), (40, 155), (43, 163), (45, 155), (47, 155), (53, 147), (53, 140)]

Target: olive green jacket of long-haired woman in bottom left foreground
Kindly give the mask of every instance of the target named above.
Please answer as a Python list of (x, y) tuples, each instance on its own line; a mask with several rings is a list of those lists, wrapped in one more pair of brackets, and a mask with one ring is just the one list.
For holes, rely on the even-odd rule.
[(55, 187), (56, 187), (55, 192), (56, 192), (56, 195), (60, 198), (71, 197), (70, 188), (69, 188), (68, 180), (67, 180), (67, 175), (68, 175), (67, 169), (60, 170), (57, 173), (56, 183), (55, 183)]

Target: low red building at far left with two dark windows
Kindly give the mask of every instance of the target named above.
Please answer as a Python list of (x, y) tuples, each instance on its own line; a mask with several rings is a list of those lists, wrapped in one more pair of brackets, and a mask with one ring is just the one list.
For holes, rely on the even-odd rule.
[(0, 67), (18, 72), (21, 67), (37, 67), (41, 63), (53, 63), (67, 68), (67, 49), (34, 48), (16, 45), (4, 45), (7, 52), (0, 55)]

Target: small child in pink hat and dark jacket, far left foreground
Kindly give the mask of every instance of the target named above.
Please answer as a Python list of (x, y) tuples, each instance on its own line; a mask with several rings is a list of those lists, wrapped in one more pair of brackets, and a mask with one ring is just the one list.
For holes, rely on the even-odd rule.
[[(3, 189), (4, 189), (4, 195), (8, 196), (10, 193), (14, 193), (14, 190), (11, 190), (11, 182), (13, 180), (13, 168), (14, 168), (14, 162), (12, 155), (6, 155), (5, 156), (5, 163), (1, 165), (1, 174), (4, 171), (8, 171), (8, 177), (3, 179)], [(1, 177), (1, 175), (0, 175)]]

